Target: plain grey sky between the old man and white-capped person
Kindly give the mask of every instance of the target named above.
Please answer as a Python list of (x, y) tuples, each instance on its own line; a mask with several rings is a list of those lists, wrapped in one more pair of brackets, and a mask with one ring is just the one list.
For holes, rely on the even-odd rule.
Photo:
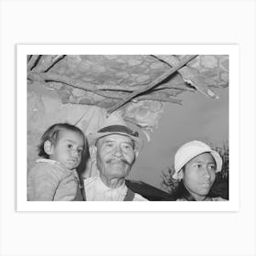
[[(158, 128), (138, 156), (129, 179), (160, 187), (162, 171), (174, 164), (176, 150), (191, 140), (214, 146), (229, 141), (229, 88), (215, 89), (219, 100), (182, 93), (183, 104), (165, 103)], [(163, 188), (161, 188), (163, 189)]]

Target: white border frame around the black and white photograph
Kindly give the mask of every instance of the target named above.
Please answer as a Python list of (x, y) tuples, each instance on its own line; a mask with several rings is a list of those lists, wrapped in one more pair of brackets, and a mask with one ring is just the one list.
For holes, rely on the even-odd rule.
[[(229, 201), (220, 202), (28, 202), (27, 55), (229, 55)], [(17, 211), (238, 211), (240, 208), (240, 59), (238, 45), (17, 45)], [(230, 129), (231, 127), (231, 129)]]

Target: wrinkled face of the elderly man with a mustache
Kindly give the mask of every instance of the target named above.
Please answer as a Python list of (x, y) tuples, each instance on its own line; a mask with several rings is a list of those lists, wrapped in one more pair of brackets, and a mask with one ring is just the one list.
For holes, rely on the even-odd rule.
[(121, 134), (102, 137), (97, 143), (97, 167), (101, 176), (123, 178), (135, 160), (133, 141)]

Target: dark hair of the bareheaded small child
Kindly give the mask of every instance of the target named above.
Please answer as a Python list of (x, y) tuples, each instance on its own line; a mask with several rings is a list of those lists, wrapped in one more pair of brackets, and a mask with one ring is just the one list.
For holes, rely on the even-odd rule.
[(40, 139), (40, 144), (37, 147), (38, 155), (48, 159), (48, 154), (44, 150), (44, 144), (46, 141), (49, 141), (51, 144), (56, 145), (59, 140), (59, 132), (61, 131), (71, 131), (75, 133), (80, 133), (83, 138), (84, 149), (83, 153), (86, 151), (85, 147), (87, 146), (87, 141), (84, 133), (80, 128), (69, 123), (56, 123), (51, 125), (48, 130), (42, 135)]

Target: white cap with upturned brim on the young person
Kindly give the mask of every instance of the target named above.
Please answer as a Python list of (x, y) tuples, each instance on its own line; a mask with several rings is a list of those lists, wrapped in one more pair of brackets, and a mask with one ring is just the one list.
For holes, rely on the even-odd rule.
[(182, 169), (182, 167), (186, 165), (187, 162), (189, 162), (191, 159), (203, 153), (209, 153), (212, 155), (217, 165), (216, 173), (219, 173), (222, 168), (222, 159), (219, 153), (215, 150), (212, 150), (208, 144), (204, 144), (199, 141), (191, 141), (182, 145), (176, 152), (175, 173), (173, 178), (178, 179), (177, 174)]

